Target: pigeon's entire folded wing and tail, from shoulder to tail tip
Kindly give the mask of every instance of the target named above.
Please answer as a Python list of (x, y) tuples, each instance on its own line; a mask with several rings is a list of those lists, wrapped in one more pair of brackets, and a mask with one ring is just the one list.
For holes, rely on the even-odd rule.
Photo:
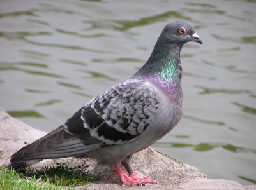
[(91, 100), (63, 126), (13, 154), (11, 162), (79, 156), (135, 140), (154, 119), (158, 104), (150, 83), (124, 81)]

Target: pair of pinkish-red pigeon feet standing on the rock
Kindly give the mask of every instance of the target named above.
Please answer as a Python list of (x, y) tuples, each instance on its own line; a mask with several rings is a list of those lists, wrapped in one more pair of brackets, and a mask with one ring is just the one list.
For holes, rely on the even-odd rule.
[(109, 179), (112, 179), (114, 175), (118, 175), (121, 179), (121, 181), (126, 185), (131, 187), (132, 184), (136, 184), (138, 186), (144, 186), (147, 183), (151, 184), (157, 184), (156, 180), (146, 179), (147, 177), (138, 177), (135, 175), (134, 172), (131, 173), (131, 175), (126, 175), (126, 173), (123, 172), (123, 170), (118, 166), (114, 165), (113, 168), (116, 170), (116, 172), (109, 175)]

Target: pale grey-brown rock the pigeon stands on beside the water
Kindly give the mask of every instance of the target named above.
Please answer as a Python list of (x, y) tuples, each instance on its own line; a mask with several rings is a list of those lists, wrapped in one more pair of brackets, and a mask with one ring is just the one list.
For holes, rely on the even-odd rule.
[[(34, 140), (39, 139), (47, 132), (34, 129), (22, 123), (18, 119), (12, 118), (3, 108), (0, 108), (0, 165), (6, 166), (11, 154), (18, 151)], [(57, 165), (61, 162), (66, 163), (69, 158), (48, 159), (37, 163), (33, 168), (42, 168), (45, 165)], [(98, 165), (91, 159), (75, 159), (73, 167), (85, 167), (93, 172), (94, 175), (102, 176), (102, 180), (77, 186), (74, 189), (95, 190), (95, 189), (256, 189), (256, 186), (242, 186), (238, 182), (223, 179), (209, 179), (197, 168), (186, 165), (167, 156), (159, 151), (148, 147), (135, 154), (133, 158), (133, 169), (137, 175), (147, 175), (149, 179), (156, 179), (160, 185), (147, 184), (146, 186), (133, 186), (132, 188), (123, 186), (116, 177), (107, 180), (107, 177), (114, 170), (110, 166)]]

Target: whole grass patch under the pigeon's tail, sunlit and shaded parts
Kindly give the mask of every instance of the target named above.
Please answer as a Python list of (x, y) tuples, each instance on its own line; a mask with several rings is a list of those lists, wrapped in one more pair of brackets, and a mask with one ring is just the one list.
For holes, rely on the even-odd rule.
[(71, 190), (74, 186), (100, 180), (100, 177), (93, 176), (89, 170), (70, 167), (72, 161), (73, 158), (69, 163), (59, 163), (59, 166), (44, 166), (41, 170), (29, 168), (24, 172), (0, 167), (0, 190)]

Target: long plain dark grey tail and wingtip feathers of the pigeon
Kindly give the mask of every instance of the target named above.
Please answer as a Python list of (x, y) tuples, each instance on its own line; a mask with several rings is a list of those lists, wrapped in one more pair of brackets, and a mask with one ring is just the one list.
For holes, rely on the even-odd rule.
[[(89, 130), (86, 132), (89, 133)], [(88, 134), (85, 135), (85, 137), (88, 136)], [(88, 137), (85, 140), (87, 140), (86, 143), (84, 143), (84, 139), (65, 132), (63, 126), (59, 126), (56, 130), (13, 154), (7, 168), (19, 171), (43, 159), (81, 156), (106, 146), (102, 141), (95, 140), (93, 137)]]

